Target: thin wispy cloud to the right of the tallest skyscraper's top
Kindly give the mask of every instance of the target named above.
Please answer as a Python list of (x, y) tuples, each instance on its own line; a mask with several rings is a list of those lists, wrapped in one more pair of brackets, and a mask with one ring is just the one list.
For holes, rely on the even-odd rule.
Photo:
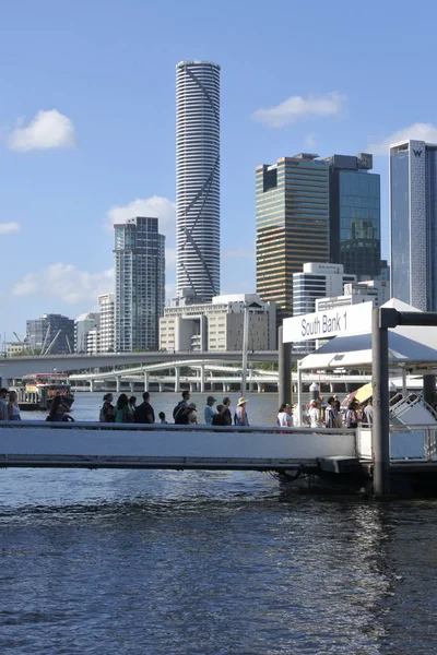
[(252, 119), (269, 128), (284, 128), (304, 118), (320, 118), (335, 116), (343, 108), (345, 96), (336, 92), (310, 94), (307, 98), (292, 96), (275, 107), (258, 109)]

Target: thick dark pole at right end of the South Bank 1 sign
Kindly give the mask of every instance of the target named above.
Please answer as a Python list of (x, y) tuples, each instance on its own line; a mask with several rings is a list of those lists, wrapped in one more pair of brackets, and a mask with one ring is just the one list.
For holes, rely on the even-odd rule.
[(371, 384), (374, 388), (371, 442), (375, 496), (390, 493), (389, 321), (385, 320), (386, 311), (385, 309), (374, 309), (371, 322)]

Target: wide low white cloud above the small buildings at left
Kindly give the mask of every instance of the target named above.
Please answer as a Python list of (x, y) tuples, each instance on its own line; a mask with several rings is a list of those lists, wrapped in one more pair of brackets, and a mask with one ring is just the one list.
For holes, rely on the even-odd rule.
[(13, 288), (14, 296), (42, 296), (60, 298), (75, 305), (83, 300), (94, 301), (99, 294), (111, 291), (114, 271), (88, 273), (72, 264), (50, 264), (40, 271), (27, 273)]

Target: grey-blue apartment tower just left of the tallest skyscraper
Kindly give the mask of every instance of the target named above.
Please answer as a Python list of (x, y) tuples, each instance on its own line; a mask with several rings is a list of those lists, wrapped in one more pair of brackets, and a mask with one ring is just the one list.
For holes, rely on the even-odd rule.
[(114, 228), (116, 349), (156, 349), (165, 300), (165, 237), (157, 231), (157, 218), (138, 216)]

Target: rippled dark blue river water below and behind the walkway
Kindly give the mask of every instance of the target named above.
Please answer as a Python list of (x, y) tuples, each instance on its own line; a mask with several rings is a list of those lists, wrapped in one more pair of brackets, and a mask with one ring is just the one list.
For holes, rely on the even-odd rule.
[[(75, 418), (99, 401), (76, 394)], [(268, 424), (276, 398), (249, 407)], [(436, 540), (434, 500), (307, 496), (260, 473), (3, 469), (0, 653), (437, 653)]]

